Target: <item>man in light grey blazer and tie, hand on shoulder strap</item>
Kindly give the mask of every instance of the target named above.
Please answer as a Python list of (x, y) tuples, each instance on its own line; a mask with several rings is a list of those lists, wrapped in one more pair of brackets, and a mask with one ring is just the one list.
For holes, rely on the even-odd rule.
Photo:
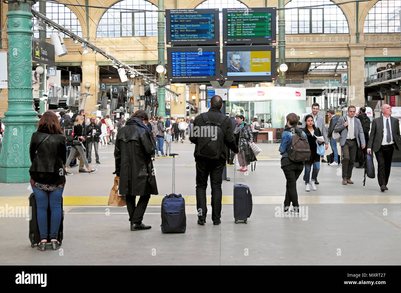
[(354, 184), (351, 181), (352, 169), (356, 157), (356, 148), (359, 146), (365, 148), (365, 135), (363, 134), (362, 124), (356, 119), (355, 106), (348, 107), (346, 121), (343, 118), (338, 119), (334, 131), (340, 133), (340, 146), (342, 151), (342, 184)]

